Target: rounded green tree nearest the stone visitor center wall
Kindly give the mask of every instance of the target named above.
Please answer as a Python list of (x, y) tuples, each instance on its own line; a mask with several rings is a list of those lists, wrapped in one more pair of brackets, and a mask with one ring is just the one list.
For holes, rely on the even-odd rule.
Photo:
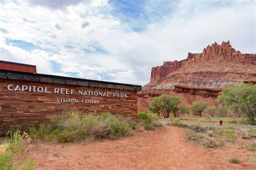
[(162, 94), (154, 97), (149, 104), (149, 109), (157, 114), (162, 113), (164, 118), (169, 118), (170, 112), (178, 112), (181, 100), (178, 97)]

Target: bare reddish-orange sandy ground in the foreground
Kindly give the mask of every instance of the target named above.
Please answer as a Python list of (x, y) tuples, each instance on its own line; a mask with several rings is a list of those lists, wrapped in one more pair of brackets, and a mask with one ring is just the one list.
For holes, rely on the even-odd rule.
[[(19, 157), (31, 157), (37, 169), (256, 169), (255, 152), (238, 145), (208, 149), (188, 143), (186, 130), (172, 126), (133, 137), (83, 144), (39, 144)], [(240, 164), (228, 159), (237, 157)]]

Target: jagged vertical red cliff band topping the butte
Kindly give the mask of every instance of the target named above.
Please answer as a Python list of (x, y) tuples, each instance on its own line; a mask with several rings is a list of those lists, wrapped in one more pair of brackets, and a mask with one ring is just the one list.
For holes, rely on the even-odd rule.
[(232, 48), (230, 41), (222, 42), (221, 45), (215, 42), (211, 46), (208, 45), (204, 48), (200, 54), (188, 53), (185, 60), (165, 61), (163, 66), (153, 67), (151, 82), (156, 82), (180, 68), (200, 65), (206, 62), (247, 62), (256, 65), (256, 54), (241, 54), (240, 51)]

